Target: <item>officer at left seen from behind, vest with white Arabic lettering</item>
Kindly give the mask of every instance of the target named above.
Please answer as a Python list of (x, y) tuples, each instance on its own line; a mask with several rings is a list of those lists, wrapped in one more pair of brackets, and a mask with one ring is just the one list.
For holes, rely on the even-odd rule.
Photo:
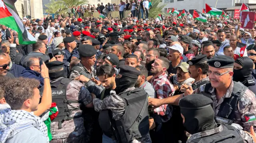
[(92, 108), (92, 97), (86, 87), (76, 81), (64, 78), (64, 63), (46, 63), (51, 79), (52, 102), (56, 102), (58, 115), (50, 125), (52, 143), (86, 142), (82, 110)]

